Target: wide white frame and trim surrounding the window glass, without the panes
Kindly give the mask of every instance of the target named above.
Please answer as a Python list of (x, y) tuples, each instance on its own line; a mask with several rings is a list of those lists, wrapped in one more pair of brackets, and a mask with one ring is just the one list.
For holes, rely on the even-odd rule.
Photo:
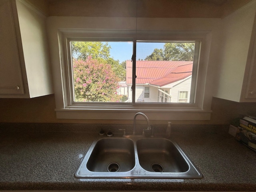
[[(78, 20), (81, 18), (78, 18)], [(91, 20), (91, 18), (88, 18)], [(93, 20), (93, 19), (92, 19)], [(111, 20), (111, 19), (110, 19)], [(126, 18), (124, 18), (126, 20)], [(128, 19), (129, 20), (129, 19)], [(84, 20), (83, 20), (84, 21)], [(98, 20), (100, 22), (100, 20)], [(108, 22), (107, 22), (108, 23)], [(125, 23), (125, 22), (124, 22)], [(72, 119), (108, 119), (108, 120), (132, 120), (136, 112), (144, 112), (151, 120), (209, 120), (211, 96), (205, 96), (205, 82), (210, 50), (209, 32), (159, 32), (153, 30), (129, 30), (127, 29), (81, 29), (82, 20), (74, 26), (68, 26), (57, 20), (48, 23), (49, 43), (51, 47), (52, 69), (54, 79), (54, 93), (56, 100), (57, 118)], [(102, 23), (102, 25), (104, 25)], [(66, 26), (66, 27), (64, 27)], [(76, 26), (76, 27), (75, 27)], [(78, 27), (80, 26), (80, 27)], [(127, 25), (128, 26), (128, 25)], [(68, 53), (67, 38), (125, 38), (135, 40), (172, 40), (172, 41), (200, 41), (200, 57), (197, 68), (198, 76), (195, 92), (196, 100), (192, 104), (159, 105), (150, 103), (129, 104), (71, 104), (70, 81), (68, 78)], [(202, 48), (203, 47), (203, 48)], [(196, 83), (194, 82), (194, 83)]]

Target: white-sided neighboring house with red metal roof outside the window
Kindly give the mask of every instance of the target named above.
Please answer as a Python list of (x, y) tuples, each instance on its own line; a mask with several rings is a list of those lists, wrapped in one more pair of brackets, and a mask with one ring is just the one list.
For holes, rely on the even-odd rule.
[[(189, 102), (193, 61), (136, 61), (136, 102)], [(128, 98), (132, 62), (126, 61)]]

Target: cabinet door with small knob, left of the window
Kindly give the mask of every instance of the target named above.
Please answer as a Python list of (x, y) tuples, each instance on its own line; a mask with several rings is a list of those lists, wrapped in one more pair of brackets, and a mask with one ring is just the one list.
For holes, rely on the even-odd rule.
[(0, 1), (0, 94), (24, 94), (10, 0)]

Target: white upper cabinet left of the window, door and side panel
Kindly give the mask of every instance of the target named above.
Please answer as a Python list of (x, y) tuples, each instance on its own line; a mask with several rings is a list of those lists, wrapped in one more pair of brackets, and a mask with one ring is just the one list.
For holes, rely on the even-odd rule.
[(46, 16), (26, 0), (1, 0), (0, 18), (0, 97), (52, 94)]

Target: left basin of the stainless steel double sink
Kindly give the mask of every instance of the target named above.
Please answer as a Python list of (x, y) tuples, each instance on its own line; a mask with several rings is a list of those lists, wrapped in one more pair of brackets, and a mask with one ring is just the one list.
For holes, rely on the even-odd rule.
[(134, 143), (125, 138), (102, 138), (92, 153), (86, 167), (94, 172), (124, 172), (135, 165)]

